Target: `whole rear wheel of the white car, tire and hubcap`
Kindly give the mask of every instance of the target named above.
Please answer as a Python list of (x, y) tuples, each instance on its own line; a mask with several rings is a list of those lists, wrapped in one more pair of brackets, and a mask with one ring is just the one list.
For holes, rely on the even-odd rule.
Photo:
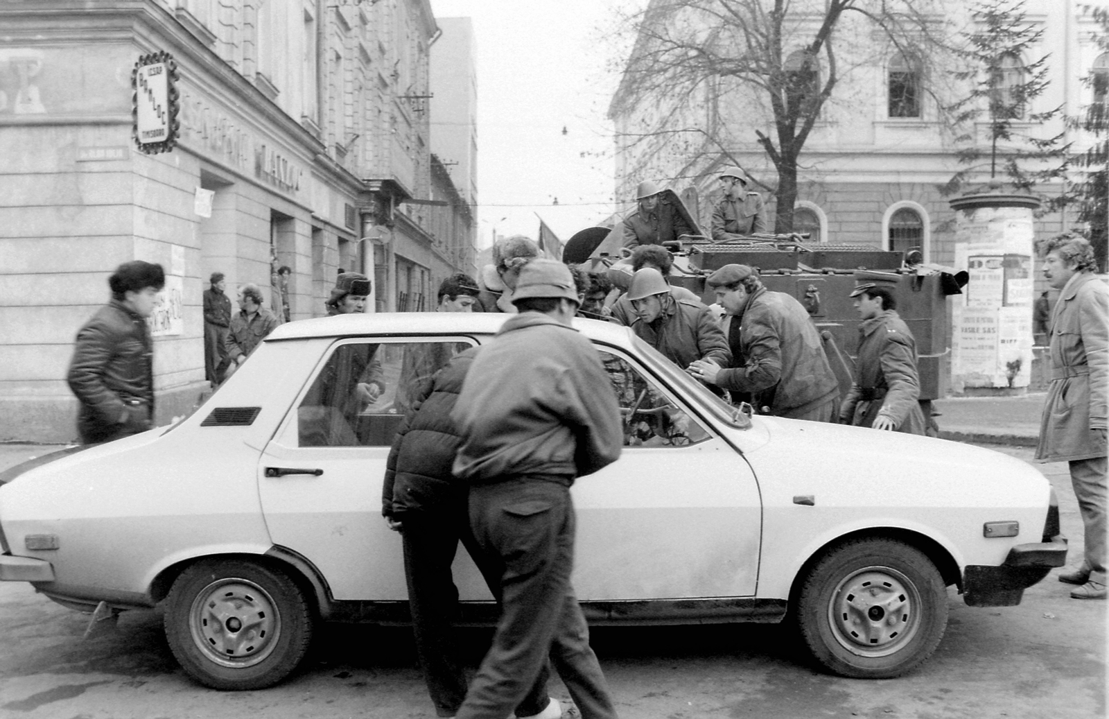
[(242, 559), (203, 560), (173, 583), (165, 638), (190, 677), (213, 689), (271, 687), (307, 652), (313, 616), (279, 569)]

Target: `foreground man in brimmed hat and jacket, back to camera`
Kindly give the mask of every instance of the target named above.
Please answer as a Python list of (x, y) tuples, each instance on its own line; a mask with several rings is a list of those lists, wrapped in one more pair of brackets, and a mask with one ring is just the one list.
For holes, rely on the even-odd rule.
[(459, 719), (505, 719), (550, 656), (583, 719), (612, 719), (589, 628), (570, 583), (570, 485), (620, 456), (612, 384), (571, 326), (570, 270), (532, 260), (509, 318), (474, 360), (451, 418), (462, 445), (455, 474), (470, 484), (470, 526), (498, 565), (501, 615)]

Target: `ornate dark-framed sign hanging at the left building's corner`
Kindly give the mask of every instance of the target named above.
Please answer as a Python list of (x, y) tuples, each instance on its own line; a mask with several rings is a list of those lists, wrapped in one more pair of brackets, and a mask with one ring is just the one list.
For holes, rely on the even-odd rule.
[(176, 80), (177, 64), (169, 52), (141, 55), (131, 71), (132, 134), (146, 154), (170, 152), (177, 142)]

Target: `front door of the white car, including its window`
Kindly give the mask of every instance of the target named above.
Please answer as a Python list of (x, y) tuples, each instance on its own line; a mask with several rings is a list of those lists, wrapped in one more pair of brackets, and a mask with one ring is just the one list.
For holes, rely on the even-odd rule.
[(753, 596), (762, 510), (747, 463), (641, 363), (600, 350), (624, 447), (572, 489), (579, 599)]

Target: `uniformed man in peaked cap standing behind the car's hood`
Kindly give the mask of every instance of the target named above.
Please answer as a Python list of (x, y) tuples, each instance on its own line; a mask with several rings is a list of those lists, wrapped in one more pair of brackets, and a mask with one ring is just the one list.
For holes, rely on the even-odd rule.
[(855, 273), (851, 296), (863, 322), (855, 382), (840, 408), (840, 422), (923, 435), (927, 424), (919, 403), (916, 340), (897, 315), (896, 286), (895, 274)]

